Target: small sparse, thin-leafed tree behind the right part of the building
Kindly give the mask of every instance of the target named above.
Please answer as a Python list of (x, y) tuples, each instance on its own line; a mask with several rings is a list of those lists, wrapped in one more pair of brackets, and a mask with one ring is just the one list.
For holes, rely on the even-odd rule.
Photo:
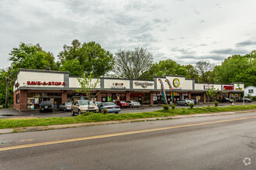
[(209, 75), (213, 71), (214, 64), (210, 63), (209, 60), (199, 61), (195, 63), (195, 68), (199, 73), (199, 82), (200, 83), (210, 83)]

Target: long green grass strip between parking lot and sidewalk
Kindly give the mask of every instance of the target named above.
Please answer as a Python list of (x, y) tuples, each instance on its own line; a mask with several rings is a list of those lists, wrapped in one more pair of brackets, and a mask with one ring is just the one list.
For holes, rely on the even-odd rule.
[(168, 117), (181, 114), (206, 114), (223, 111), (235, 111), (235, 110), (248, 110), (256, 109), (256, 104), (242, 105), (242, 106), (230, 106), (230, 107), (195, 107), (195, 108), (181, 108), (171, 110), (157, 110), (144, 113), (133, 114), (93, 114), (88, 116), (81, 114), (77, 117), (50, 117), (50, 118), (35, 118), (35, 119), (0, 119), (0, 129), (4, 128), (25, 128), (33, 126), (47, 126), (54, 124), (78, 124), (85, 122), (99, 122), (99, 121), (121, 121), (132, 120), (139, 118), (150, 117)]

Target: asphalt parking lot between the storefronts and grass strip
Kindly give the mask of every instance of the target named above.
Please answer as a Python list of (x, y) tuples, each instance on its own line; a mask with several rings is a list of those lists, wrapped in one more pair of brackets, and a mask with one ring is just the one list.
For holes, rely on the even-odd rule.
[[(234, 103), (234, 105), (242, 105), (243, 103)], [(256, 102), (252, 103), (245, 103), (245, 104), (256, 104)], [(196, 104), (195, 107), (207, 107), (207, 106), (213, 106), (213, 103), (210, 104)], [(226, 107), (230, 106), (232, 104), (219, 104), (219, 107)], [(188, 106), (176, 106), (176, 108), (188, 108)], [(154, 110), (161, 110), (161, 105), (144, 105), (141, 107), (134, 107), (134, 108), (121, 108), (121, 111), (119, 114), (126, 114), (126, 113), (138, 113), (138, 112), (150, 112)], [(0, 110), (0, 118), (22, 118), (22, 117), (38, 117), (38, 118), (44, 118), (44, 117), (71, 117), (71, 111), (63, 111), (63, 110), (54, 110), (53, 112), (45, 112), (40, 113), (39, 110), (27, 110), (27, 111), (19, 111), (15, 109), (2, 109)]]

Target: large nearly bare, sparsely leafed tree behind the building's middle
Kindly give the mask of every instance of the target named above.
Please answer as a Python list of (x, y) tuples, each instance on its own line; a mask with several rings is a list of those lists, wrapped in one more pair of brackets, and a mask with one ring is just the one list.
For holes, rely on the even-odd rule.
[(116, 65), (113, 71), (126, 79), (144, 79), (144, 73), (153, 63), (152, 54), (141, 47), (135, 48), (134, 51), (119, 49), (115, 59)]

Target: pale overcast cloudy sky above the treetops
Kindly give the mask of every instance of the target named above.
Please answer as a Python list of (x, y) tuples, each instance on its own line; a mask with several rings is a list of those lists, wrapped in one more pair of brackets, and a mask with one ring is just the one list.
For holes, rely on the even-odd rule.
[(20, 42), (58, 53), (73, 39), (112, 54), (147, 49), (154, 62), (216, 65), (256, 49), (255, 0), (1, 0), (0, 68)]

